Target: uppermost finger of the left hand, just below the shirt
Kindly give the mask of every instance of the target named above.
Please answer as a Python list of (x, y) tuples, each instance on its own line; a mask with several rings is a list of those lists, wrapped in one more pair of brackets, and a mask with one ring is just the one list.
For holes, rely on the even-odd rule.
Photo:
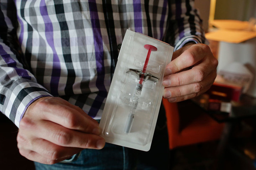
[(82, 114), (81, 111), (78, 111), (78, 108), (74, 109), (70, 105), (68, 102), (60, 104), (56, 100), (51, 100), (51, 98), (40, 101), (37, 103), (37, 109), (41, 112), (38, 119), (49, 120), (69, 129), (99, 135), (101, 132), (99, 124), (95, 123), (95, 120), (92, 121), (92, 118), (88, 115), (85, 117), (83, 114), (86, 113)]

